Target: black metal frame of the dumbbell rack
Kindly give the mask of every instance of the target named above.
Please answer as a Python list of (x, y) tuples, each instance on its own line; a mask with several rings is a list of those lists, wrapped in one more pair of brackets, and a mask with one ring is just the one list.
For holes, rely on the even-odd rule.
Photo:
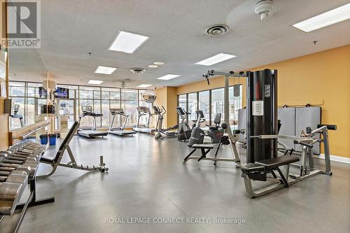
[[(23, 143), (23, 142), (21, 144), (23, 146), (26, 145), (26, 143)], [(41, 156), (43, 155), (43, 152), (45, 151), (45, 148), (41, 148), (41, 149), (42, 149), (42, 152), (38, 154), (37, 159), (36, 159), (37, 161), (40, 160)], [(11, 150), (11, 148), (9, 150)], [(23, 219), (25, 218), (25, 214), (27, 212), (28, 207), (55, 202), (55, 197), (48, 197), (45, 199), (36, 199), (36, 172), (37, 172), (37, 167), (34, 171), (34, 174), (30, 174), (30, 175), (28, 174), (28, 176), (29, 176), (28, 182), (25, 182), (23, 184), (26, 187), (27, 183), (29, 183), (29, 197), (27, 198), (25, 203), (17, 204), (15, 206), (15, 210), (21, 210), (21, 211), (20, 211), (20, 214), (19, 214), (17, 220), (15, 221), (15, 224), (13, 225), (13, 229), (11, 232), (18, 232), (18, 230), (20, 230), (20, 226), (22, 224)], [(22, 196), (22, 190), (24, 190), (25, 187), (22, 187), (21, 192), (19, 192), (18, 195)], [(20, 197), (18, 197), (16, 199), (19, 200)], [(0, 220), (3, 218), (3, 216), (12, 215), (12, 214), (13, 214), (13, 210), (11, 210), (10, 213), (0, 213)], [(1, 216), (1, 215), (3, 215), (3, 216)]]

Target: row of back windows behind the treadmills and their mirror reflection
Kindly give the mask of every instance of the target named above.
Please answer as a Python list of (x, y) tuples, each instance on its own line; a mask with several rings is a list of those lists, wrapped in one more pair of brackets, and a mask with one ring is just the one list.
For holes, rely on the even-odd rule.
[[(42, 84), (10, 82), (9, 96), (13, 99), (14, 104), (20, 106), (18, 114), (23, 115), (25, 125), (33, 124), (35, 116), (40, 114), (41, 106), (46, 104), (46, 99), (38, 96), (38, 87), (42, 87)], [(98, 128), (109, 127), (111, 124), (110, 108), (124, 108), (125, 113), (130, 115), (127, 126), (137, 124), (137, 106), (148, 106), (152, 109), (152, 104), (146, 103), (141, 98), (144, 90), (73, 85), (57, 85), (57, 87), (69, 88), (69, 99), (56, 99), (59, 115), (68, 115), (69, 117), (69, 127), (74, 120), (79, 119), (79, 115), (82, 113), (81, 106), (84, 105), (90, 105), (92, 111), (103, 114), (102, 118), (96, 118)], [(120, 122), (123, 123), (123, 121), (124, 119), (116, 117), (114, 125), (120, 125)], [(93, 118), (82, 118), (81, 125), (92, 127)], [(10, 118), (10, 129), (20, 126), (18, 118)], [(55, 118), (55, 129), (59, 129), (59, 118)]]

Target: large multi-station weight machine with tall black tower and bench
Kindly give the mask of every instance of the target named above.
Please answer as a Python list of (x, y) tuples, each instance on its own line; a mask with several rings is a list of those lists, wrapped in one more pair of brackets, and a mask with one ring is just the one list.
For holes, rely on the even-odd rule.
[[(328, 129), (335, 130), (335, 125), (318, 125), (314, 131), (307, 129), (307, 134), (301, 136), (278, 135), (277, 120), (277, 71), (265, 69), (262, 71), (247, 71), (246, 73), (208, 71), (204, 74), (209, 83), (209, 76), (225, 76), (225, 88), (228, 87), (229, 77), (246, 77), (246, 162), (241, 167), (246, 192), (251, 197), (260, 197), (269, 192), (288, 188), (289, 185), (304, 179), (326, 174), (331, 176), (330, 152), (328, 144)], [(228, 105), (228, 99), (225, 99)], [(225, 107), (226, 108), (226, 107)], [(283, 122), (282, 122), (283, 123)], [(285, 122), (288, 124), (288, 122)], [(321, 134), (323, 139), (315, 139)], [(290, 139), (302, 146), (300, 157), (292, 155), (279, 156), (278, 139)], [(325, 151), (325, 171), (314, 168), (312, 147), (314, 143), (323, 142)], [(307, 160), (309, 162), (307, 163)], [(298, 174), (290, 174), (290, 165), (299, 162)], [(275, 181), (264, 188), (253, 189), (251, 181)]]

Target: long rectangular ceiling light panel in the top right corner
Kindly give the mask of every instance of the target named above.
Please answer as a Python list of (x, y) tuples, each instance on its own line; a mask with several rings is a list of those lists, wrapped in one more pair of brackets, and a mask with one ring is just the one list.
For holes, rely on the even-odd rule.
[(294, 24), (293, 27), (296, 27), (297, 29), (305, 32), (309, 32), (349, 19), (350, 3), (347, 3), (344, 6), (329, 10), (325, 13), (322, 13), (321, 15), (316, 15), (315, 17), (311, 17), (308, 20), (298, 22), (297, 24)]

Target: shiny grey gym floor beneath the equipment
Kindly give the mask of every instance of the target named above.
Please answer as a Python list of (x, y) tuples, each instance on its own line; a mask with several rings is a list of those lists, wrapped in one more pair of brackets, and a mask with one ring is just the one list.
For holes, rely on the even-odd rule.
[[(47, 154), (53, 156), (57, 148)], [(61, 167), (38, 181), (38, 198), (55, 196), (55, 203), (29, 208), (20, 232), (350, 232), (349, 164), (332, 162), (333, 176), (250, 199), (234, 163), (181, 164), (190, 148), (176, 139), (74, 136), (71, 148), (83, 164), (98, 164), (104, 155), (109, 172)], [(239, 151), (244, 163), (244, 150)], [(221, 156), (230, 157), (228, 146)], [(41, 165), (41, 173), (48, 168)], [(4, 218), (0, 232), (8, 232), (16, 217)], [(211, 223), (121, 224), (106, 218), (209, 218)], [(214, 224), (214, 218), (245, 223)]]

